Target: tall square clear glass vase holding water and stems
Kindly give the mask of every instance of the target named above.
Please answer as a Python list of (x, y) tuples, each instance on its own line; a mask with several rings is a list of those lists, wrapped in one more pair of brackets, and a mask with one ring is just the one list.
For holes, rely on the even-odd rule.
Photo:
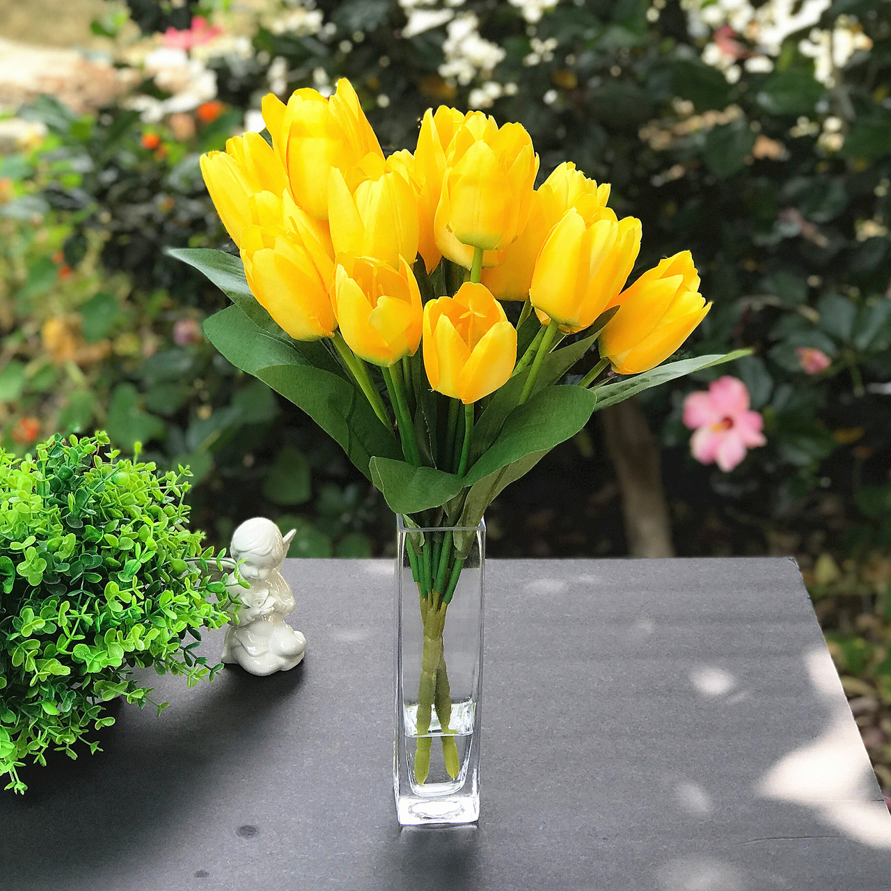
[(476, 822), (486, 524), (396, 531), (396, 816)]

